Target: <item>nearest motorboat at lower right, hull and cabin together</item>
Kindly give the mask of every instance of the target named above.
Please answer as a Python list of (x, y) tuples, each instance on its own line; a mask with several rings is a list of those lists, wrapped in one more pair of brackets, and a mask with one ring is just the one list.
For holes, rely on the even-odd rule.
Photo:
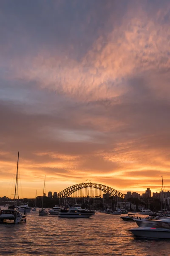
[(170, 218), (147, 220), (142, 227), (129, 230), (134, 236), (149, 239), (170, 239)]

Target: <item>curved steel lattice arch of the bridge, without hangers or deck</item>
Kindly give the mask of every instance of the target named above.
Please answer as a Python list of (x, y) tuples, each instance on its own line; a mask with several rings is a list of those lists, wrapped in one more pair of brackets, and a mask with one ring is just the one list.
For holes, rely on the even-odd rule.
[(117, 191), (116, 189), (112, 189), (109, 186), (105, 186), (102, 184), (97, 184), (97, 183), (79, 183), (73, 186), (70, 186), (64, 190), (62, 190), (61, 192), (58, 193), (58, 197), (60, 198), (66, 198), (68, 196), (70, 196), (71, 194), (73, 194), (74, 192), (80, 190), (80, 189), (85, 189), (85, 188), (95, 188), (95, 189), (99, 189), (105, 193), (110, 194), (110, 196), (117, 196), (120, 198), (125, 198), (125, 195), (123, 195), (121, 192)]

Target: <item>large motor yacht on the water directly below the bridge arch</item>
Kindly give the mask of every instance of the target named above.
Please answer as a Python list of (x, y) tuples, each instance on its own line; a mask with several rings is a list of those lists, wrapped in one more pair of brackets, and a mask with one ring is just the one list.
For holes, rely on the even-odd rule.
[(62, 218), (90, 218), (95, 214), (94, 211), (80, 208), (70, 207), (69, 209), (61, 209), (58, 216)]

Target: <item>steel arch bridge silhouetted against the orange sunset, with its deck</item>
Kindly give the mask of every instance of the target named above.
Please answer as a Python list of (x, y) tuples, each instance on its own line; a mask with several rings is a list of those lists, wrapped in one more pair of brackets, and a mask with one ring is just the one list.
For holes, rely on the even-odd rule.
[(95, 198), (100, 197), (102, 198), (103, 194), (106, 194), (110, 197), (115, 198), (125, 198), (125, 195), (121, 192), (117, 191), (116, 189), (113, 189), (109, 186), (98, 184), (98, 183), (79, 183), (73, 186), (70, 186), (61, 192), (58, 193), (59, 198)]

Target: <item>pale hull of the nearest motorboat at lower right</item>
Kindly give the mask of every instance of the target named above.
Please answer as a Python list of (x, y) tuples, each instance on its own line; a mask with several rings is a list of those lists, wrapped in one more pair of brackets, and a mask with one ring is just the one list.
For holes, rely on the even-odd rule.
[(141, 227), (130, 230), (134, 236), (149, 239), (170, 239), (170, 230), (164, 228)]

